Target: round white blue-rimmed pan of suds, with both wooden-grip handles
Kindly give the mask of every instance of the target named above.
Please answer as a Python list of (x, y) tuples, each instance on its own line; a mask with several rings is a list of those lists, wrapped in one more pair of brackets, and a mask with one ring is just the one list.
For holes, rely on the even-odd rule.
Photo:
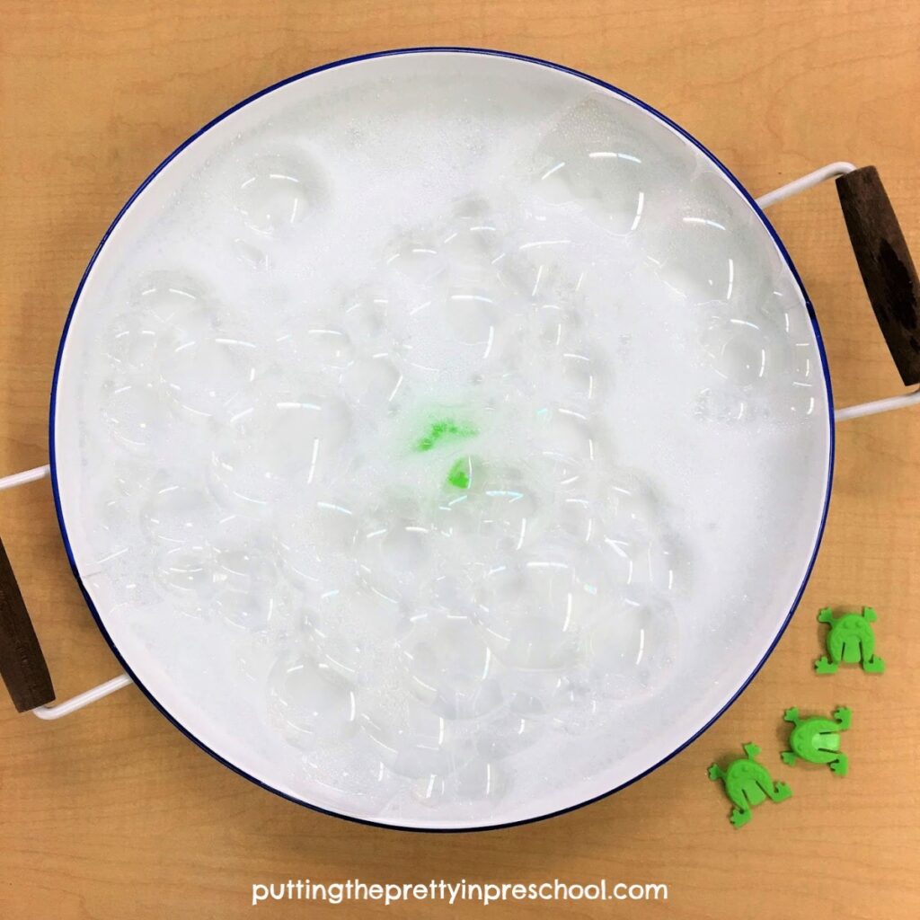
[(763, 213), (833, 177), (916, 385), (917, 278), (872, 167), (755, 200), (621, 90), (470, 49), (229, 109), (109, 227), (63, 330), (51, 464), (0, 480), (51, 475), (125, 670), (49, 705), (0, 553), (17, 708), (134, 683), (258, 785), (414, 830), (534, 821), (661, 765), (787, 626), (835, 422), (918, 398), (834, 410)]

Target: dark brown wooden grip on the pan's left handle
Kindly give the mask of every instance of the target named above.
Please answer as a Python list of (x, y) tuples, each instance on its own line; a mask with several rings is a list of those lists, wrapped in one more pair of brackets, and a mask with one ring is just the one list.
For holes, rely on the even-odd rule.
[(26, 602), (0, 540), (0, 674), (19, 712), (54, 699), (54, 687), (41, 654)]

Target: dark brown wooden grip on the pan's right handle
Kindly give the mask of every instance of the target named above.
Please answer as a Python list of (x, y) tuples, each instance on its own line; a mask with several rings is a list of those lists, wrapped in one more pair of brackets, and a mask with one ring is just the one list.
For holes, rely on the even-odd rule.
[(891, 357), (905, 385), (920, 384), (920, 281), (879, 170), (863, 167), (841, 176), (837, 194)]

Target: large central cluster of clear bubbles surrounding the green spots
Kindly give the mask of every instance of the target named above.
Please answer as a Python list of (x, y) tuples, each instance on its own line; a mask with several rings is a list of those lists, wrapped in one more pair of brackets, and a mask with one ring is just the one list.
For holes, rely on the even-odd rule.
[[(535, 282), (509, 284), (499, 224), (456, 205), (383, 254), (384, 293), (273, 339), (160, 273), (126, 315), (148, 317), (140, 344), (126, 319), (106, 339), (117, 368), (154, 378), (163, 424), (207, 430), (199, 477), (157, 474), (138, 506), (160, 588), (268, 637), (266, 719), (308, 770), (353, 747), (368, 782), (405, 781), (426, 807), (500, 799), (507, 757), (661, 685), (684, 587), (650, 485), (610, 466), (610, 355), (578, 274), (524, 242)], [(431, 371), (456, 368), (452, 398), (432, 396)]]

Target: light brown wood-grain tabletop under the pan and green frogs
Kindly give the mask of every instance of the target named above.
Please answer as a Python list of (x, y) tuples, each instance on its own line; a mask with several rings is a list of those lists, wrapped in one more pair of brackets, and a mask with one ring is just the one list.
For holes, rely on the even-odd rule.
[[(623, 86), (753, 193), (837, 159), (880, 168), (920, 252), (920, 5), (650, 0), (0, 2), (0, 475), (47, 461), (63, 318), (121, 203), (182, 139), (286, 75), (374, 49), (459, 44), (569, 64)], [(771, 212), (822, 324), (838, 405), (901, 392), (834, 189)], [(811, 583), (742, 698), (612, 798), (488, 834), (400, 834), (298, 808), (201, 753), (131, 688), (44, 723), (0, 700), (0, 916), (249, 916), (257, 882), (663, 882), (667, 902), (535, 903), (565, 916), (920, 916), (920, 409), (841, 425)], [(0, 532), (59, 697), (118, 672), (64, 558), (48, 480), (0, 499)], [(878, 677), (817, 678), (822, 605), (879, 611)], [(739, 831), (706, 770), (785, 707), (854, 710), (850, 776), (787, 768), (795, 795)], [(259, 907), (305, 915), (304, 903)], [(339, 916), (383, 915), (374, 903)], [(501, 913), (501, 905), (489, 908)], [(445, 915), (431, 903), (398, 916)], [(458, 916), (477, 905), (455, 907)]]

